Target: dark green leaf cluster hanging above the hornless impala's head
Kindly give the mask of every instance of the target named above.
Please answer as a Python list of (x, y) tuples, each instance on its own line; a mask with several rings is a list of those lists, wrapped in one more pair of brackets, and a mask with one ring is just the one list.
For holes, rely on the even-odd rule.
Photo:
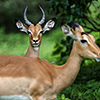
[(49, 12), (60, 16), (60, 21), (71, 23), (73, 20), (82, 22), (90, 13), (89, 5), (96, 0), (46, 0), (51, 3)]

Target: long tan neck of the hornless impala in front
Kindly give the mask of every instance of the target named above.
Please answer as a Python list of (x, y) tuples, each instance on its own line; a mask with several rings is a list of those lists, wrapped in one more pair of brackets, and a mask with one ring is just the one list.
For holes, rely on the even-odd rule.
[(68, 61), (57, 69), (57, 78), (54, 82), (57, 94), (73, 83), (79, 72), (81, 62), (82, 57), (78, 55), (76, 46), (73, 45)]

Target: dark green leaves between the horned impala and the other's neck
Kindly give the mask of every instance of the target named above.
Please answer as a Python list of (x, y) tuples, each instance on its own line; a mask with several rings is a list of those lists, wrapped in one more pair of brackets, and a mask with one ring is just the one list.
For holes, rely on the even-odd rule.
[(61, 38), (59, 41), (56, 42), (55, 51), (53, 51), (52, 55), (60, 54), (60, 57), (57, 58), (56, 63), (58, 65), (62, 65), (66, 62), (69, 57), (69, 54), (72, 49), (73, 39), (70, 37)]

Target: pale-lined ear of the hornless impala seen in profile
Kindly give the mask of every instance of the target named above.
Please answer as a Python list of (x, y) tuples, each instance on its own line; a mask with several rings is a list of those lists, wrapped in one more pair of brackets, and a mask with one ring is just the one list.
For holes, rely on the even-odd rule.
[(67, 36), (70, 36), (71, 38), (75, 39), (76, 32), (72, 28), (70, 28), (66, 24), (62, 25), (61, 28), (62, 28), (62, 31), (63, 31), (64, 34), (66, 34)]

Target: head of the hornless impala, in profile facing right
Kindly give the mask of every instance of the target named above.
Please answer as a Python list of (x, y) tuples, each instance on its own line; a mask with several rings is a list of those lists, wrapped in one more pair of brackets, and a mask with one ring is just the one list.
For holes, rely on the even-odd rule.
[(76, 22), (73, 22), (73, 27), (75, 31), (66, 24), (62, 25), (62, 31), (74, 39), (77, 53), (81, 57), (100, 61), (100, 48), (96, 45), (94, 37), (84, 32), (82, 26)]

